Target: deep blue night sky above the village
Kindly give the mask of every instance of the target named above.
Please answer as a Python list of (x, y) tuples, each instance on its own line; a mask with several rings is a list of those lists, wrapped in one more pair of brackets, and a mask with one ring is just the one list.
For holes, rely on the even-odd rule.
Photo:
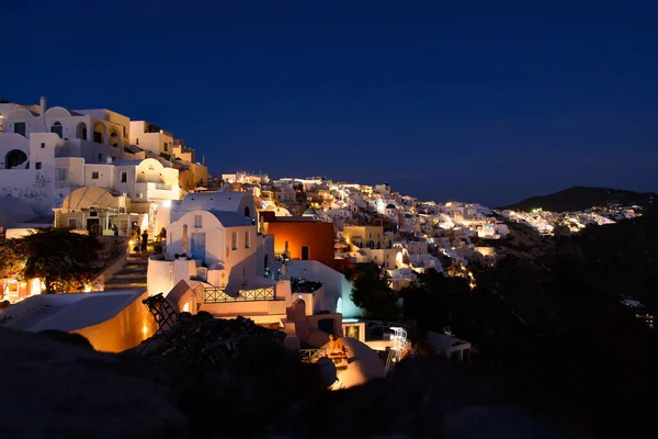
[(1, 14), (1, 98), (146, 119), (216, 173), (488, 205), (658, 190), (653, 2), (23, 0)]

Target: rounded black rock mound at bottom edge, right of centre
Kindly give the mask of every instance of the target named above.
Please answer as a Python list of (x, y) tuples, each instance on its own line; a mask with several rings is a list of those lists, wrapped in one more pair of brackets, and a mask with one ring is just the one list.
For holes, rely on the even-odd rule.
[(583, 437), (515, 406), (463, 364), (436, 358), (404, 361), (386, 379), (292, 405), (276, 420), (264, 437)]

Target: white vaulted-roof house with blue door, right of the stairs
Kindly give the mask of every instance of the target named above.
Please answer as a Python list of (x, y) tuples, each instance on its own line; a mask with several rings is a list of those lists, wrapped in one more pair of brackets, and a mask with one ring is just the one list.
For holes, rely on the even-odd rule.
[[(237, 291), (254, 281), (266, 283), (274, 241), (272, 236), (257, 233), (252, 196), (243, 192), (193, 193), (170, 207), (162, 206), (158, 217), (167, 216), (168, 222), (158, 224), (167, 228), (166, 260), (149, 260), (149, 293), (170, 291), (180, 280), (195, 277), (197, 268), (204, 269), (204, 281), (220, 289)], [(174, 266), (181, 258), (184, 262), (178, 266), (184, 267), (179, 272)]]

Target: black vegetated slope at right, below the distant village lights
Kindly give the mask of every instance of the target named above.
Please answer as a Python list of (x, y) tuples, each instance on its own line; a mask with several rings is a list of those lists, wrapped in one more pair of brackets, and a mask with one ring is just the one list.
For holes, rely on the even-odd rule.
[[(416, 340), (450, 328), (476, 348), (474, 365), (506, 382), (523, 404), (597, 436), (654, 428), (658, 335), (621, 295), (658, 306), (657, 217), (555, 238), (511, 227), (496, 247), (504, 255), (496, 268), (470, 267), (473, 291), (465, 279), (428, 272), (399, 293), (404, 317), (416, 320)], [(361, 272), (368, 275), (355, 282), (354, 300), (370, 315), (379, 307), (390, 315), (388, 297), (397, 295), (385, 293), (374, 269)], [(368, 297), (368, 289), (376, 294)]]

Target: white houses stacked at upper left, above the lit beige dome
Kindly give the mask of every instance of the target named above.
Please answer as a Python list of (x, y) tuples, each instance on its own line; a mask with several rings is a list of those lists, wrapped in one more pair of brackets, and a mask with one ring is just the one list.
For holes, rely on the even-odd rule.
[(21, 198), (42, 215), (86, 185), (125, 194), (137, 207), (180, 199), (177, 168), (185, 179), (207, 180), (205, 167), (186, 161), (193, 150), (181, 140), (175, 157), (170, 133), (110, 110), (47, 109), (42, 98), (32, 106), (0, 103), (0, 194)]

